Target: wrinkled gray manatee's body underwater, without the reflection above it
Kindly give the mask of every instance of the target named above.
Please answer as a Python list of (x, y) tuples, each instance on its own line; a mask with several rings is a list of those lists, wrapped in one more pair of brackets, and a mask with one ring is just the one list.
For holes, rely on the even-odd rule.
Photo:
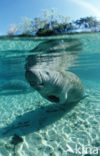
[(26, 79), (44, 98), (58, 104), (76, 103), (83, 97), (80, 79), (69, 71), (31, 67)]

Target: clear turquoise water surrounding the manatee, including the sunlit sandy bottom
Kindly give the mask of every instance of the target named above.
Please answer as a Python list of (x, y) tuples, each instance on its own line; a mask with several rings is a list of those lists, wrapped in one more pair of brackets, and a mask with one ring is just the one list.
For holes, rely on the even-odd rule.
[[(87, 97), (70, 110), (54, 111), (26, 82), (30, 55), (43, 68), (74, 72)], [(23, 142), (14, 146), (14, 134)], [(91, 155), (96, 147), (100, 155), (100, 34), (0, 39), (0, 156), (78, 155), (66, 152), (67, 145), (74, 152), (80, 147), (79, 155), (85, 155), (82, 146)]]

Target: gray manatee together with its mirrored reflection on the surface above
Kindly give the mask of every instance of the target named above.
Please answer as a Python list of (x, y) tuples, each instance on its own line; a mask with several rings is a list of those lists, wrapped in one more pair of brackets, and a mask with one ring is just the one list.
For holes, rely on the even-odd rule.
[(79, 40), (42, 41), (30, 53), (26, 58), (25, 77), (32, 88), (47, 100), (58, 104), (76, 103), (83, 98), (81, 80), (69, 71), (70, 67), (78, 66), (79, 63)]

